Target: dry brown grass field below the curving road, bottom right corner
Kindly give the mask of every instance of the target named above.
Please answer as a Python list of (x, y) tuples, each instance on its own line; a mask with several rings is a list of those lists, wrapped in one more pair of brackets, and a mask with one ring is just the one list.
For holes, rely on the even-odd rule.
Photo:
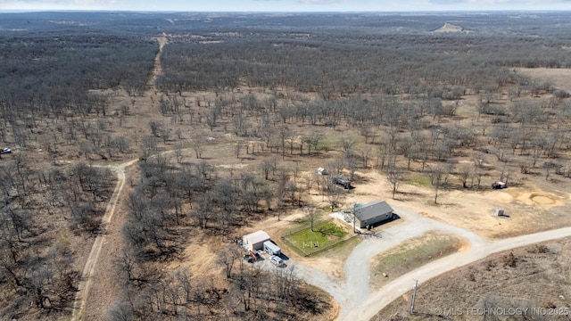
[[(409, 292), (372, 320), (568, 320), (571, 309), (568, 299), (571, 298), (570, 252), (571, 239), (567, 238), (494, 254), (420, 284), (415, 315), (409, 313), (412, 295)], [(501, 311), (527, 309), (528, 313), (483, 316), (470, 315), (467, 310), (493, 308)], [(536, 312), (532, 313), (533, 310)]]

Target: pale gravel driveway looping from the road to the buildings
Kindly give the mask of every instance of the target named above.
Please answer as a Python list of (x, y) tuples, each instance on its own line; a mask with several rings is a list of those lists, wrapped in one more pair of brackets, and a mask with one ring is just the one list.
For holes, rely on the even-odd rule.
[[(410, 291), (413, 279), (418, 279), (421, 283), (426, 282), (434, 276), (439, 276), (478, 259), (484, 259), (495, 252), (571, 235), (571, 227), (567, 227), (489, 242), (467, 229), (426, 218), (411, 210), (394, 207), (394, 212), (403, 221), (378, 232), (376, 235), (364, 236), (365, 239), (355, 247), (345, 262), (344, 280), (327, 275), (319, 269), (296, 263), (293, 259), (286, 261), (286, 268), (294, 268), (295, 276), (330, 293), (341, 307), (338, 320), (368, 320), (377, 314), (378, 310), (383, 309), (386, 304)], [(458, 235), (468, 242), (469, 248), (430, 262), (392, 280), (377, 292), (371, 292), (368, 286), (370, 259), (403, 241), (429, 231)], [(262, 263), (262, 266), (265, 269), (275, 268), (269, 262)]]

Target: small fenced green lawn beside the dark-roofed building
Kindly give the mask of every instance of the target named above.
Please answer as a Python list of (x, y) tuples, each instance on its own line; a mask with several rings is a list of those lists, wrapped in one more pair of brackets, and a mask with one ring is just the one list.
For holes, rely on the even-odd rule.
[(315, 224), (313, 231), (307, 227), (292, 235), (287, 235), (284, 237), (284, 241), (294, 251), (303, 256), (309, 256), (317, 251), (335, 247), (350, 236), (343, 227), (332, 222), (326, 222)]

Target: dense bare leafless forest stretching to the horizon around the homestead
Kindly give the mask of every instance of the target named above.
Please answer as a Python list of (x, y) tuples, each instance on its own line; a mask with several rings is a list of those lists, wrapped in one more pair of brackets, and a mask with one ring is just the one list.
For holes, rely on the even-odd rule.
[[(109, 319), (331, 317), (293, 271), (246, 265), (236, 231), (312, 185), (335, 208), (305, 159), (380, 170), (393, 196), (422, 173), (434, 203), (515, 173), (568, 179), (569, 94), (517, 69), (571, 67), (570, 30), (555, 12), (0, 14), (0, 315), (70, 317), (107, 165), (138, 159)], [(161, 269), (193, 237), (221, 244), (219, 279)]]

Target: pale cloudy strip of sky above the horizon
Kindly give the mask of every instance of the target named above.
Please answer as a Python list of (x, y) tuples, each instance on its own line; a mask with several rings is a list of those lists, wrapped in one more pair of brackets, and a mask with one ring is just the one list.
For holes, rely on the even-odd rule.
[(410, 12), (571, 10), (571, 0), (0, 0), (0, 11)]

